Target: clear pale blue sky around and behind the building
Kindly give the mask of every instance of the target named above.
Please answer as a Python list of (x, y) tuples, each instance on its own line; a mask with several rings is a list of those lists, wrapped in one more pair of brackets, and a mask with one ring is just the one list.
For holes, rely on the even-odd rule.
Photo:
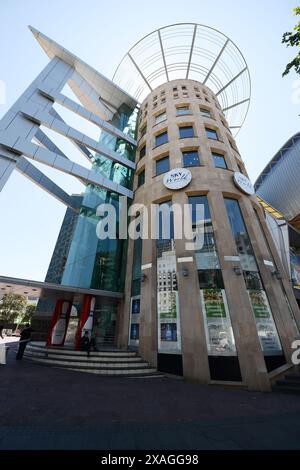
[[(292, 73), (282, 79), (296, 51), (281, 36), (296, 22), (292, 0), (1, 0), (0, 80), (6, 102), (0, 118), (47, 64), (31, 24), (112, 78), (127, 50), (167, 24), (197, 22), (219, 29), (241, 49), (250, 69), (252, 100), (237, 144), (251, 179), (299, 131), (300, 104), (292, 100)], [(51, 177), (53, 173), (47, 174)], [(81, 186), (55, 173), (68, 191)], [(43, 280), (65, 207), (17, 172), (0, 193), (0, 274)]]

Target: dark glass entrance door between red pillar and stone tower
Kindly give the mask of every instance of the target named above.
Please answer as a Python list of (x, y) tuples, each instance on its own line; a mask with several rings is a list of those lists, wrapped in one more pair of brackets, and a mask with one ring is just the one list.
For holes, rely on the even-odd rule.
[(93, 335), (98, 348), (114, 346), (117, 312), (114, 305), (100, 305), (95, 309)]

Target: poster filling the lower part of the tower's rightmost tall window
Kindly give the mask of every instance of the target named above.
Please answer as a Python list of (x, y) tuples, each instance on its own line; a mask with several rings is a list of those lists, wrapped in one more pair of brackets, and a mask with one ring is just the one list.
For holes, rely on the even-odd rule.
[(249, 290), (248, 294), (263, 352), (267, 356), (281, 355), (282, 348), (265, 291)]

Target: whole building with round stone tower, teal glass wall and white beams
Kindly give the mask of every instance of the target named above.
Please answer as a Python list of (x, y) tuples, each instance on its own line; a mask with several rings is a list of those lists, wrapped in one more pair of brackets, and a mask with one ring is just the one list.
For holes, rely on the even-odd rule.
[[(47, 344), (64, 345), (76, 305), (76, 348), (88, 331), (99, 346), (111, 338), (163, 372), (269, 390), (270, 374), (291, 366), (300, 316), (234, 138), (250, 100), (240, 51), (211, 28), (172, 25), (137, 43), (111, 82), (33, 32), (51, 62), (1, 121), (2, 186), (13, 166), (30, 172), (31, 159), (86, 185), (61, 287), (87, 294), (61, 294), (52, 314), (39, 312)], [(62, 93), (66, 83), (81, 105)], [(99, 140), (63, 122), (53, 102), (99, 126)], [(41, 123), (75, 143), (89, 169), (53, 143), (45, 150), (28, 142)], [(119, 209), (121, 196), (130, 216), (116, 219), (115, 238), (101, 240), (99, 205)], [(188, 208), (184, 220), (176, 206)], [(122, 224), (143, 232), (153, 207), (157, 236), (123, 239)]]

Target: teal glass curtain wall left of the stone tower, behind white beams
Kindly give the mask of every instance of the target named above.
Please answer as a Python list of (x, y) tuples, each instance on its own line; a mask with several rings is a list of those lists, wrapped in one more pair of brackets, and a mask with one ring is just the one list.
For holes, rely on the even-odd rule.
[[(131, 109), (123, 106), (115, 115), (112, 124), (124, 133), (135, 137), (136, 114), (136, 111), (132, 113)], [(128, 159), (135, 160), (135, 147), (122, 139), (102, 131), (100, 142)], [(96, 154), (93, 157), (93, 170), (115, 183), (132, 189), (133, 170), (113, 162), (103, 155)], [(96, 211), (101, 203), (111, 203), (116, 208), (116, 239), (99, 240), (96, 235), (96, 226), (100, 220)], [(62, 284), (115, 292), (124, 290), (127, 241), (118, 239), (119, 205), (118, 194), (97, 186), (87, 186)]]

